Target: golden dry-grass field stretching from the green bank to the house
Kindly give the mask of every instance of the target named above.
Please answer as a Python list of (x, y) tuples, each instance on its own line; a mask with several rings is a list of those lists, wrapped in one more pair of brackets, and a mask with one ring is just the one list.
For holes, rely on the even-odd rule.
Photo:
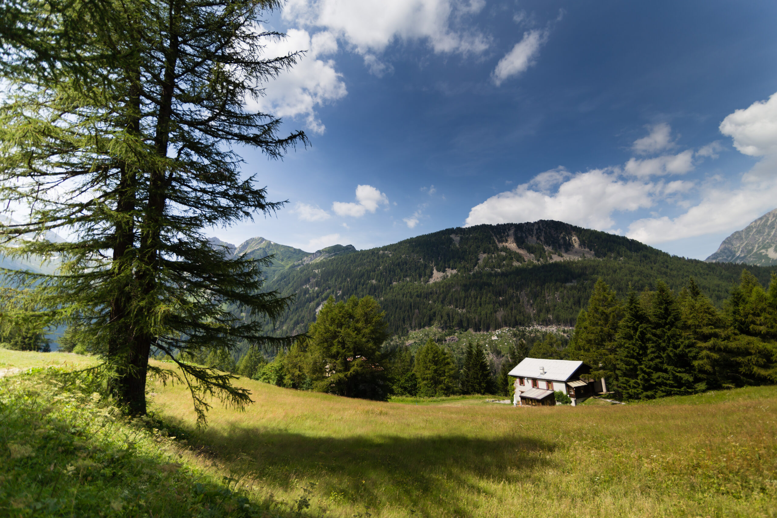
[[(194, 430), (183, 387), (154, 408), (190, 461), (312, 516), (775, 516), (777, 388), (652, 405), (369, 402), (242, 378), (255, 404)], [(280, 506), (279, 506), (280, 508)]]

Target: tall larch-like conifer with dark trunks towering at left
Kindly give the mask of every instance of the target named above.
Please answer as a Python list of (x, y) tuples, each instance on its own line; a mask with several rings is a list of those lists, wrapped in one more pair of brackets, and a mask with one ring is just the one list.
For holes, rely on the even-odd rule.
[[(301, 132), (279, 137), (276, 117), (245, 110), (298, 58), (261, 55), (281, 35), (256, 23), (279, 6), (3, 5), (0, 197), (25, 206), (26, 218), (0, 227), (0, 252), (61, 257), (56, 275), (12, 273), (12, 300), (24, 311), (32, 299), (34, 318), (82, 324), (110, 391), (133, 414), (145, 413), (148, 372), (186, 381), (200, 423), (209, 396), (251, 401), (232, 376), (179, 362), (177, 352), (291, 344), (267, 335), (287, 305), (262, 292), (267, 262), (227, 258), (204, 235), (281, 207), (242, 177), (235, 144), (278, 158), (306, 142)], [(45, 239), (57, 230), (71, 240)], [(149, 366), (152, 347), (179, 371)]]

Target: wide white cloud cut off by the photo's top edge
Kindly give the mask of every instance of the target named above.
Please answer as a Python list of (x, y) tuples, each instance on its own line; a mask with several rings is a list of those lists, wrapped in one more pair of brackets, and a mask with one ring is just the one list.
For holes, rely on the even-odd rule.
[[(284, 19), (321, 27), (359, 54), (381, 53), (395, 40), (426, 40), (435, 52), (480, 53), (483, 34), (462, 22), (477, 14), (483, 0), (289, 0)], [(368, 63), (368, 66), (370, 64)]]

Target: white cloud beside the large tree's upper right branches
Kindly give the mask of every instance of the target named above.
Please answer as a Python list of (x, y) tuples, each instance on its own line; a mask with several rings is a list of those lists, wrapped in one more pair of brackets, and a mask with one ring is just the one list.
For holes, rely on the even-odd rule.
[(247, 101), (249, 109), (262, 110), (280, 117), (301, 117), (305, 126), (322, 134), (326, 127), (319, 120), (317, 106), (333, 103), (347, 95), (342, 75), (326, 56), (337, 51), (333, 33), (322, 31), (311, 35), (306, 30), (291, 29), (283, 40), (267, 43), (265, 55), (284, 56), (307, 50), (291, 70), (282, 72), (267, 84), (265, 96)]

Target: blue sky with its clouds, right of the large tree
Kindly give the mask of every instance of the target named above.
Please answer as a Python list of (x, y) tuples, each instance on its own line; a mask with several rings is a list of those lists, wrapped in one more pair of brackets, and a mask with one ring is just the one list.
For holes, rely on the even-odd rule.
[(288, 0), (250, 107), (304, 129), (289, 200), (214, 235), (308, 251), (557, 219), (704, 259), (777, 207), (777, 2)]

